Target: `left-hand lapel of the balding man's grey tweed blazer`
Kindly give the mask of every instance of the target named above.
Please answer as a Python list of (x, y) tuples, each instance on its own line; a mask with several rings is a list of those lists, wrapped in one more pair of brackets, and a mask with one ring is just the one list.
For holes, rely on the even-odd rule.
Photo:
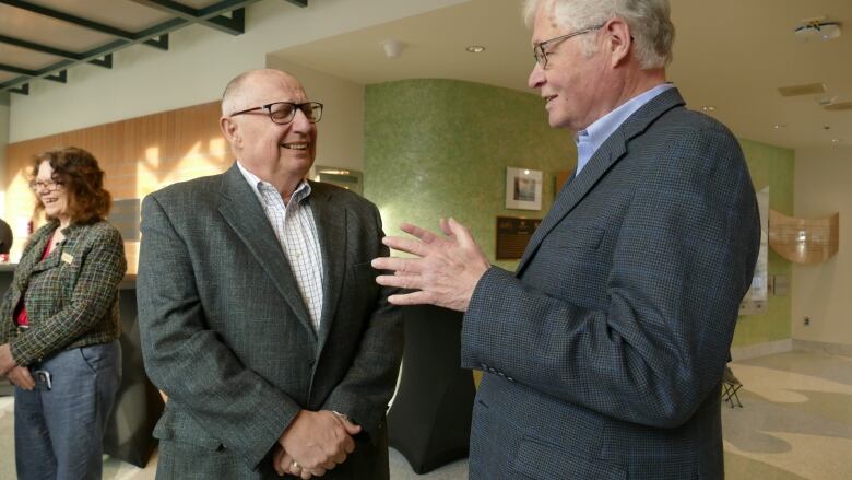
[(218, 211), (267, 271), (298, 320), (313, 331), (305, 301), (263, 208), (236, 163), (223, 174)]

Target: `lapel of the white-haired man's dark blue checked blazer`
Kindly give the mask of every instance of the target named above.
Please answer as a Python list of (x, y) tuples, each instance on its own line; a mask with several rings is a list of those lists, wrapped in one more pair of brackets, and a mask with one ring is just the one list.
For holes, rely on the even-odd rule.
[(642, 105), (630, 117), (618, 127), (606, 141), (594, 152), (589, 163), (578, 175), (575, 172), (569, 182), (559, 191), (554, 201), (553, 208), (539, 225), (539, 229), (530, 238), (530, 243), (524, 249), (521, 261), (518, 264), (516, 274), (521, 274), (530, 258), (539, 249), (542, 241), (548, 233), (573, 210), (580, 200), (604, 177), (607, 171), (613, 167), (628, 152), (628, 143), (635, 137), (644, 132), (660, 116), (670, 109), (684, 105), (684, 99), (677, 92), (677, 89), (670, 89), (660, 95), (651, 98), (650, 102)]

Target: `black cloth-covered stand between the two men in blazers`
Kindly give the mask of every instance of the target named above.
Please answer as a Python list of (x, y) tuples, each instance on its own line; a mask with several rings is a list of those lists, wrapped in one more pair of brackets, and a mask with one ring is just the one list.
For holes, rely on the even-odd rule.
[(417, 473), (468, 456), (476, 389), (459, 367), (462, 314), (405, 307), (405, 352), (388, 438)]

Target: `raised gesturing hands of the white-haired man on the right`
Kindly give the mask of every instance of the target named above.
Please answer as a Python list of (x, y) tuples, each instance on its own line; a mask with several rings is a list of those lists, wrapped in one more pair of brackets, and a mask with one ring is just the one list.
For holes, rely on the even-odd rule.
[(443, 235), (410, 223), (400, 229), (417, 239), (386, 236), (384, 245), (417, 258), (380, 257), (372, 267), (391, 270), (393, 274), (378, 276), (380, 285), (416, 290), (391, 295), (395, 305), (433, 304), (464, 312), (471, 303), (473, 290), (490, 268), (488, 258), (476, 244), (471, 232), (454, 219), (441, 219)]

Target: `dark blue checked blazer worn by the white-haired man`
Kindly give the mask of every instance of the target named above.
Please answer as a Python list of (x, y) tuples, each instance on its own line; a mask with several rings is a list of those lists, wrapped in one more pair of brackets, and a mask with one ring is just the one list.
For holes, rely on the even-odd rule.
[(668, 90), (558, 194), (464, 316), (470, 477), (719, 479), (720, 381), (760, 242), (739, 145)]

